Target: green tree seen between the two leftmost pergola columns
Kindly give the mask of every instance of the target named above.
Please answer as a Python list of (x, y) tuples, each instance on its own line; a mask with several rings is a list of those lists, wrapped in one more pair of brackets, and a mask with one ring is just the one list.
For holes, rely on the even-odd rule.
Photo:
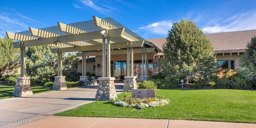
[(57, 74), (57, 54), (46, 45), (28, 47), (26, 51), (26, 71), (38, 81), (50, 81)]

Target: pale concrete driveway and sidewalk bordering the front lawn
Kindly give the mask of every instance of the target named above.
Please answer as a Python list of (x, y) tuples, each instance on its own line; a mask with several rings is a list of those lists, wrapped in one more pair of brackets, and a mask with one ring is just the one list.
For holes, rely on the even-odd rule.
[[(115, 83), (122, 93), (123, 83)], [(96, 86), (0, 100), (1, 128), (256, 128), (256, 124), (190, 120), (88, 118), (52, 114), (94, 102)], [(16, 121), (16, 122), (15, 122)], [(17, 122), (18, 121), (18, 122)], [(7, 123), (7, 124), (6, 124)]]

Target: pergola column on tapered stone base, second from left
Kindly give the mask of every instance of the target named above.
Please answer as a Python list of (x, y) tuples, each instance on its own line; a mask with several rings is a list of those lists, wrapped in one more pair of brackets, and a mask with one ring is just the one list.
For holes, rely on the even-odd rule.
[(58, 49), (58, 76), (54, 77), (54, 85), (52, 90), (65, 90), (67, 89), (66, 85), (66, 76), (62, 76), (62, 52)]

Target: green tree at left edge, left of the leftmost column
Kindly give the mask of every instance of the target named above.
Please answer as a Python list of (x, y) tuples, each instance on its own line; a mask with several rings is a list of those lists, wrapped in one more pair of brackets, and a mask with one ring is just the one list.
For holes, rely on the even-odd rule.
[(12, 45), (14, 40), (4, 37), (0, 40), (0, 77), (5, 73), (17, 73), (20, 65), (20, 49)]

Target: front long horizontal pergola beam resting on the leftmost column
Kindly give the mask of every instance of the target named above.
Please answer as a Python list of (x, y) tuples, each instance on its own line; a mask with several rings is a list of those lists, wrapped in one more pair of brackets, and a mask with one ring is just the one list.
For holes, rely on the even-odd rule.
[[(92, 39), (101, 39), (102, 35), (100, 35), (101, 31), (94, 32), (86, 32), (80, 34), (70, 34), (70, 35), (61, 35), (58, 37), (49, 37), (49, 38), (41, 38), (37, 40), (28, 40), (23, 41), (24, 47), (36, 46), (36, 45), (48, 45), (53, 44), (55, 41), (59, 43), (73, 42), (73, 41), (84, 41), (84, 40), (92, 40)], [(109, 37), (121, 37), (124, 32), (124, 28), (119, 28), (115, 30), (109, 30)], [(20, 47), (19, 42), (14, 42), (14, 47)]]

